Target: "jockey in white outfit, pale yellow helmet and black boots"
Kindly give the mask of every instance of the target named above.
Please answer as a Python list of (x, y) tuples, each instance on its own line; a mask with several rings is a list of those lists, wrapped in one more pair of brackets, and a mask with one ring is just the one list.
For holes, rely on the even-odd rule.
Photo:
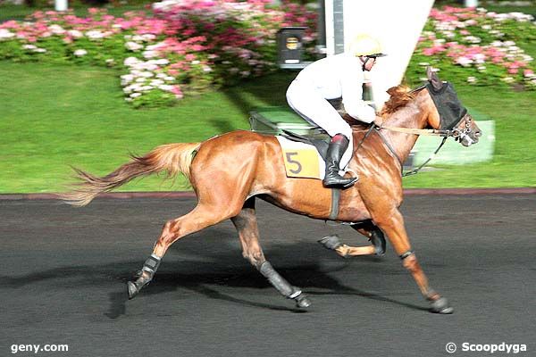
[(352, 129), (328, 100), (342, 98), (346, 112), (356, 120), (365, 123), (376, 120), (373, 107), (363, 101), (364, 71), (371, 71), (376, 57), (384, 55), (376, 39), (359, 35), (348, 52), (309, 64), (287, 90), (290, 107), (305, 120), (326, 130), (331, 137), (324, 187), (351, 187), (358, 179), (345, 179), (339, 175), (341, 160), (345, 159), (342, 160), (344, 168), (351, 159)]

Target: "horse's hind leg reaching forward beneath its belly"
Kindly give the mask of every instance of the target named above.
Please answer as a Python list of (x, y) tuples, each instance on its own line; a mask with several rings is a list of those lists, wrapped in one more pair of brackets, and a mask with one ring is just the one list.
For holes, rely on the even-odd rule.
[(294, 299), (299, 308), (308, 307), (311, 303), (306, 295), (296, 286), (291, 286), (285, 278), (282, 278), (272, 268), (272, 264), (264, 258), (263, 249), (259, 244), (259, 232), (255, 216), (255, 197), (249, 198), (239, 214), (230, 220), (239, 231), (244, 258), (255, 266), (281, 295)]

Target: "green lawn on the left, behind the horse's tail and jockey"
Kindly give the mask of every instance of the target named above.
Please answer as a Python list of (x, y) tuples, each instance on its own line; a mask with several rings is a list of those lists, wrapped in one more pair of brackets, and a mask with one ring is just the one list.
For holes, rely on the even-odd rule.
[[(0, 193), (57, 192), (71, 181), (69, 165), (105, 174), (129, 153), (248, 129), (248, 112), (284, 104), (290, 80), (274, 74), (172, 108), (135, 110), (112, 70), (0, 62)], [(123, 190), (184, 187), (153, 178)]]

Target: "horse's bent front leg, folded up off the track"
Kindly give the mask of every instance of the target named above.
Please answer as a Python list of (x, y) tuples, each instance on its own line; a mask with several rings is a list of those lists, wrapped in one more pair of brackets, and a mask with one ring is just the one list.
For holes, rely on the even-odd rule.
[(368, 237), (372, 245), (345, 245), (337, 235), (323, 237), (318, 243), (327, 249), (335, 251), (343, 258), (359, 255), (383, 255), (385, 253), (385, 237), (383, 236), (383, 232), (372, 221), (364, 221), (351, 227), (364, 235), (364, 237)]

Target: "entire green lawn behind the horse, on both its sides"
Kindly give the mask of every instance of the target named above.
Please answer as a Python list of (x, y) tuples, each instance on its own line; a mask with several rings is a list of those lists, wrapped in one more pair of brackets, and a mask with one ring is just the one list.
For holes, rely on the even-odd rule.
[[(295, 73), (189, 97), (180, 105), (134, 110), (117, 73), (93, 67), (0, 62), (0, 193), (62, 191), (69, 165), (105, 174), (156, 145), (201, 141), (248, 128), (255, 106), (284, 105)], [(536, 92), (456, 87), (469, 107), (496, 120), (492, 162), (441, 167), (406, 178), (405, 187), (536, 186)], [(123, 191), (187, 189), (183, 179), (138, 180)]]

